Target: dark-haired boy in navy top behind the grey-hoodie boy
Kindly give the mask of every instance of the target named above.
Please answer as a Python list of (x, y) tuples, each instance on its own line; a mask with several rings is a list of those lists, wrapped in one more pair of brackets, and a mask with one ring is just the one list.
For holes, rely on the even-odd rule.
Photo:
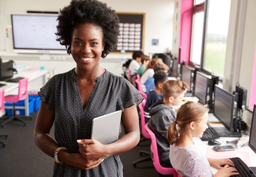
[(154, 90), (151, 90), (148, 93), (148, 97), (146, 100), (146, 104), (144, 107), (144, 113), (145, 113), (145, 122), (147, 123), (150, 115), (148, 113), (148, 108), (152, 106), (154, 103), (157, 102), (157, 100), (163, 99), (163, 94), (162, 94), (162, 88), (163, 88), (163, 83), (168, 80), (167, 73), (165, 71), (157, 71), (154, 76), (154, 84), (156, 88)]

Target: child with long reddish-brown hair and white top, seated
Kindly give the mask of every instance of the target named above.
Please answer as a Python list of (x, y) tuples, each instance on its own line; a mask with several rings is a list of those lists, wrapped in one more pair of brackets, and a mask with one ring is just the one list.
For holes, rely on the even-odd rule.
[(154, 75), (154, 65), (157, 64), (157, 63), (163, 63), (163, 60), (162, 58), (153, 58), (147, 65), (145, 71), (143, 72), (142, 76), (140, 77), (140, 83), (141, 83), (141, 86), (142, 88), (144, 86), (144, 83), (146, 82), (146, 80), (150, 77), (153, 77)]

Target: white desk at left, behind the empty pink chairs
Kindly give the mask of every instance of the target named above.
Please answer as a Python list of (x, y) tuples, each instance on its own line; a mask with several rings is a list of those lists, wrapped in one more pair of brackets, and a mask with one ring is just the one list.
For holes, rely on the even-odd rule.
[[(47, 76), (51, 75), (51, 72), (53, 73), (53, 70), (27, 70), (27, 71), (18, 71), (18, 74), (15, 74), (13, 77), (26, 77), (28, 78), (28, 90), (29, 91), (38, 91), (42, 86), (45, 85), (47, 82)], [(18, 86), (19, 83), (9, 83), (0, 81), (0, 83), (6, 84), (6, 86), (0, 87), (0, 89), (5, 89), (5, 96), (9, 94), (17, 94), (18, 93)], [(5, 108), (11, 108), (12, 106), (5, 106)], [(25, 99), (25, 106), (15, 106), (17, 109), (25, 109), (25, 115), (29, 116), (29, 98), (26, 97)], [(5, 112), (3, 111), (3, 114)], [(0, 115), (2, 116), (2, 115)]]

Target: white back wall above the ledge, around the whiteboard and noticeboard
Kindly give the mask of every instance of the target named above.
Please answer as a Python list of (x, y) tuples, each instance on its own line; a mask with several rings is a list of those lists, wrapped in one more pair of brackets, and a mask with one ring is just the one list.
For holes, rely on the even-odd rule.
[[(68, 5), (70, 0), (1, 0), (0, 15), (3, 15), (3, 24), (0, 24), (0, 41), (6, 40), (3, 31), (6, 28), (11, 33), (11, 14), (34, 11), (59, 11)], [(173, 9), (174, 0), (102, 0), (117, 12), (145, 13), (145, 53), (161, 53), (172, 48)], [(1, 18), (0, 18), (1, 19)], [(0, 20), (1, 23), (1, 20)], [(158, 46), (152, 46), (152, 39), (159, 39)], [(1, 46), (1, 44), (0, 44)], [(0, 48), (1, 49), (1, 48)], [(3, 49), (2, 49), (3, 50)], [(6, 40), (5, 50), (12, 52), (12, 38)]]

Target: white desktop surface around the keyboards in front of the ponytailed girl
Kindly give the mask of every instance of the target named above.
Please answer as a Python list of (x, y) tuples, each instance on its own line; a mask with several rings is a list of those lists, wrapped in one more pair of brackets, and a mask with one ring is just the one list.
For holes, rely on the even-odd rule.
[[(217, 123), (214, 123), (214, 124), (211, 124), (211, 126), (223, 126), (221, 123), (217, 124)], [(221, 137), (221, 139), (223, 140), (223, 143), (221, 145), (226, 145), (226, 141), (232, 141), (232, 140), (235, 140), (237, 138), (234, 138), (234, 137)], [(205, 154), (205, 156), (207, 157), (207, 150), (209, 147), (213, 147), (213, 146), (209, 146), (208, 145), (208, 141), (202, 141), (200, 138), (194, 138), (194, 143), (196, 144), (196, 146), (200, 149), (200, 151)], [(244, 151), (244, 152), (249, 152), (250, 154), (250, 164), (247, 164), (248, 166), (256, 166), (256, 153), (254, 153), (254, 151), (249, 147), (249, 146), (244, 146), (244, 147), (241, 147), (235, 151)], [(212, 173), (215, 174), (218, 169), (217, 168), (214, 168), (211, 166), (211, 170), (212, 170)]]

